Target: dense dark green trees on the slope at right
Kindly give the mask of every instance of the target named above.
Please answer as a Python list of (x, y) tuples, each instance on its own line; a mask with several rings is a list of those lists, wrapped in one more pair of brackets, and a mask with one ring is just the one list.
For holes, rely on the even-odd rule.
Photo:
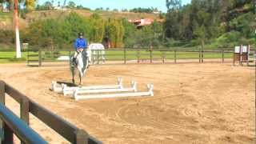
[(182, 7), (179, 0), (166, 0), (166, 6), (164, 34), (173, 42), (196, 40), (202, 48), (211, 42), (233, 47), (238, 42), (251, 42), (246, 39), (254, 37), (252, 0), (192, 0)]

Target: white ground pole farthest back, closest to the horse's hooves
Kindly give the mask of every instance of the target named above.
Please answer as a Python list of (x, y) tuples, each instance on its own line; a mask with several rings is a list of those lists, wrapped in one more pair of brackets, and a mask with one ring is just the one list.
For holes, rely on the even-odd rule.
[(98, 90), (98, 89), (122, 89), (122, 78), (118, 78), (116, 85), (103, 85), (103, 86), (66, 86), (65, 84), (58, 85), (57, 82), (51, 82), (51, 90), (57, 93), (73, 94), (74, 90)]

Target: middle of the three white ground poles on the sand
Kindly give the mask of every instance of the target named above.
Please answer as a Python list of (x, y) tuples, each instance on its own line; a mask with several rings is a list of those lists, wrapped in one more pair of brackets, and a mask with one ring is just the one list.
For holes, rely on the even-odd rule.
[[(137, 82), (132, 81), (131, 87), (129, 88), (117, 88), (117, 89), (91, 89), (91, 90), (84, 90), (77, 88), (75, 89), (77, 94), (98, 94), (98, 93), (113, 93), (113, 92), (137, 92)], [(63, 88), (63, 94), (66, 96), (67, 94), (74, 94), (74, 90), (66, 90), (66, 87)]]

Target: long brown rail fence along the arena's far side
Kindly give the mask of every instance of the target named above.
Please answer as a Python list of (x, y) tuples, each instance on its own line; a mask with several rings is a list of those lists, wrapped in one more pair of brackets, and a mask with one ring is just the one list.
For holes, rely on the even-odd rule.
[[(251, 50), (254, 53), (255, 50)], [(27, 52), (27, 65), (46, 66), (48, 62), (68, 62), (73, 50), (38, 50)], [(65, 57), (66, 59), (58, 59)], [(178, 62), (233, 62), (234, 50), (92, 50), (92, 64), (101, 63), (178, 63)]]

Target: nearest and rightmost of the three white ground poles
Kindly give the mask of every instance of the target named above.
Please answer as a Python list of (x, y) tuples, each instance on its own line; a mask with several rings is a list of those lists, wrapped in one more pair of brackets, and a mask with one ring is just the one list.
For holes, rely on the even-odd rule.
[(74, 99), (76, 101), (81, 99), (98, 99), (98, 98), (123, 98), (123, 97), (142, 97), (142, 96), (154, 96), (154, 85), (147, 85), (147, 92), (136, 92), (136, 93), (120, 93), (120, 94), (78, 94), (78, 90), (74, 90)]

